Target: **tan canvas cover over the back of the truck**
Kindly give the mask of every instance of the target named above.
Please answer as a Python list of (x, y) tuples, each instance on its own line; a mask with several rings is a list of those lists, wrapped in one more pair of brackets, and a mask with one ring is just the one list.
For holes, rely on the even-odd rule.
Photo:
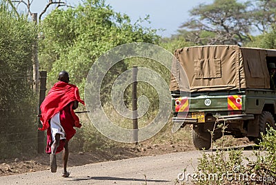
[[(172, 61), (170, 90), (186, 91), (185, 78), (188, 78), (190, 92), (270, 88), (266, 57), (276, 57), (276, 50), (233, 45), (178, 49)], [(180, 74), (180, 65), (186, 75)]]

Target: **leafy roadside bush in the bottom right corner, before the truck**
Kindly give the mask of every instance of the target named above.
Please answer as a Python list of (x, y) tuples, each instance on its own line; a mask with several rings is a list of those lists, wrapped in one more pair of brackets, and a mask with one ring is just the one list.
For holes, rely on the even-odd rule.
[[(224, 143), (212, 153), (199, 158), (195, 184), (275, 184), (276, 131), (267, 128), (262, 141), (250, 157), (244, 157), (244, 148), (227, 149)], [(224, 136), (223, 136), (224, 137)]]

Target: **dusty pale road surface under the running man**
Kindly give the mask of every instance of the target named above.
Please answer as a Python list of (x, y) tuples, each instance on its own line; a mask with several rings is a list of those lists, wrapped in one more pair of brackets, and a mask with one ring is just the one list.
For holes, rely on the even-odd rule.
[[(250, 150), (244, 150), (244, 155), (251, 154)], [(184, 168), (186, 173), (194, 173), (200, 156), (201, 152), (194, 150), (87, 164), (68, 168), (71, 172), (68, 178), (61, 177), (62, 169), (58, 168), (57, 173), (39, 171), (3, 176), (0, 184), (178, 184), (177, 175)]]

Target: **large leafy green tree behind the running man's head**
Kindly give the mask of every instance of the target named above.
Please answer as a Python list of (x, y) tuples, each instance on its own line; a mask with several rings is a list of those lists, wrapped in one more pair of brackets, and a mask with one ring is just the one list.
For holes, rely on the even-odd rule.
[[(130, 17), (115, 12), (102, 0), (53, 10), (41, 26), (39, 61), (41, 69), (50, 72), (48, 82), (57, 81), (59, 70), (68, 70), (72, 83), (80, 86), (81, 92), (90, 67), (104, 52), (134, 41), (159, 42), (156, 30), (142, 27), (141, 20), (131, 24)], [(110, 71), (113, 76), (127, 68), (124, 61), (118, 65)]]

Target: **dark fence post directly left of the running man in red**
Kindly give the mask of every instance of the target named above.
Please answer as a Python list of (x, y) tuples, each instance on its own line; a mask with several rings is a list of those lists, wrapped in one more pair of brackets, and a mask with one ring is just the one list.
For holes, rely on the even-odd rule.
[[(42, 101), (46, 97), (46, 79), (47, 79), (47, 71), (41, 71), (40, 73), (40, 88), (39, 88), (39, 107), (42, 103)], [(39, 108), (39, 115), (41, 114), (41, 110)], [(39, 119), (38, 123), (39, 128), (42, 127), (41, 121)], [(43, 153), (44, 152), (44, 132), (41, 130), (38, 130), (37, 134), (37, 153)]]

